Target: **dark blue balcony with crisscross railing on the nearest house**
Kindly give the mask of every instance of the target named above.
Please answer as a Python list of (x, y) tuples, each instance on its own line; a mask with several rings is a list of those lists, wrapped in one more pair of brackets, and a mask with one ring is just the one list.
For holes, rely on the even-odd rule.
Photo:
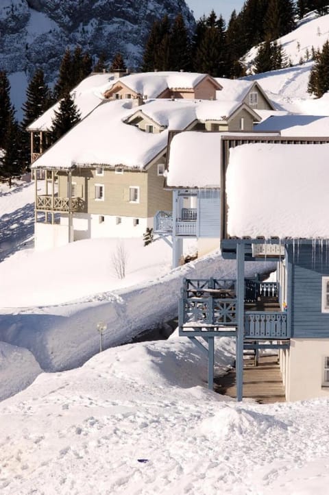
[[(266, 306), (267, 298), (273, 300), (277, 297), (278, 284), (245, 280), (245, 287), (244, 338), (289, 339), (287, 313), (271, 311), (273, 303), (269, 304), (269, 311), (266, 309), (258, 311), (258, 306)], [(179, 303), (180, 335), (235, 335), (237, 326), (235, 293), (235, 280), (185, 279)], [(252, 310), (246, 311), (248, 305), (249, 308), (252, 305)]]

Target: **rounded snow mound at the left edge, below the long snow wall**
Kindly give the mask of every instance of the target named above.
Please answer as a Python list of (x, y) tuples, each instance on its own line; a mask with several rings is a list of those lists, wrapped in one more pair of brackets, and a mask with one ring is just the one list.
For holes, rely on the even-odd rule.
[(0, 400), (28, 387), (41, 372), (27, 349), (0, 342)]

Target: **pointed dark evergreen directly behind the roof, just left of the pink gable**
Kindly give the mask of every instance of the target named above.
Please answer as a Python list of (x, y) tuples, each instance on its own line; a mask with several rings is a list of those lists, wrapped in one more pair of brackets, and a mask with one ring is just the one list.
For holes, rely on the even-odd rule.
[(182, 14), (178, 14), (171, 29), (169, 40), (170, 70), (191, 69), (191, 43)]

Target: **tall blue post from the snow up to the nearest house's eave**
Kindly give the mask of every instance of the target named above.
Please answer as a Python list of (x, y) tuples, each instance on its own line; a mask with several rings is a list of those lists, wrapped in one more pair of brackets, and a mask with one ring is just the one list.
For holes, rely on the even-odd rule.
[(243, 398), (243, 333), (244, 333), (244, 295), (245, 295), (245, 245), (239, 242), (236, 245), (236, 400)]

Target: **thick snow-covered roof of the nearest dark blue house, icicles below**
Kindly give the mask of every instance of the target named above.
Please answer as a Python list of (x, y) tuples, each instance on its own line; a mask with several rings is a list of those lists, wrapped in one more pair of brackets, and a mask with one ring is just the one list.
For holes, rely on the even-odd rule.
[(329, 144), (246, 144), (230, 150), (228, 234), (329, 238)]

